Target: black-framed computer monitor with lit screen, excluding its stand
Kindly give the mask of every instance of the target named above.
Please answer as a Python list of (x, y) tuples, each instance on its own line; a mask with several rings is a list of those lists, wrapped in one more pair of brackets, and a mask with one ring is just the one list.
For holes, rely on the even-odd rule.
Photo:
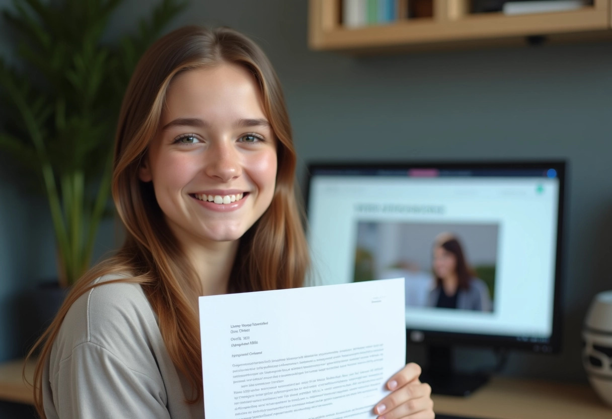
[(308, 172), (317, 284), (405, 278), (409, 341), (559, 349), (563, 162)]

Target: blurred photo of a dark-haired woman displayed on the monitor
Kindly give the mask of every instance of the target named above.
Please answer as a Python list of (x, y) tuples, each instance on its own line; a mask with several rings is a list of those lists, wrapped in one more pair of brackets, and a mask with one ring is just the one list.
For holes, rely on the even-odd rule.
[(404, 277), (406, 307), (494, 311), (497, 224), (359, 221), (353, 281)]

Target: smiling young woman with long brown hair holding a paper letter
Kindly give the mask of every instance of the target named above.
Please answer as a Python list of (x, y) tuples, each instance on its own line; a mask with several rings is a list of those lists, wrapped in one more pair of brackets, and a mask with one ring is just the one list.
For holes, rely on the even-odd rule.
[[(304, 280), (295, 166), (280, 84), (255, 43), (196, 27), (157, 41), (116, 136), (125, 243), (73, 287), (41, 338), (40, 415), (202, 418), (198, 296)], [(433, 418), (419, 374), (408, 364), (390, 377), (375, 412)]]

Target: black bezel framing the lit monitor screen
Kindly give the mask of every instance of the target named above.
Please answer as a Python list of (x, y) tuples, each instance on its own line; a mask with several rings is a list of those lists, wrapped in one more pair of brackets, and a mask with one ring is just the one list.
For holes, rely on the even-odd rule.
[[(565, 160), (490, 160), (490, 161), (414, 161), (414, 162), (338, 162), (338, 161), (318, 161), (307, 164), (305, 177), (305, 213), (308, 217), (308, 205), (310, 203), (310, 186), (312, 185), (313, 173), (320, 170), (403, 170), (403, 169), (441, 169), (441, 170), (520, 170), (520, 169), (548, 169), (556, 170), (556, 177), (559, 179), (558, 197), (558, 219), (557, 219), (557, 241), (556, 241), (556, 260), (554, 265), (554, 292), (553, 292), (553, 325), (552, 333), (548, 342), (524, 340), (523, 336), (506, 336), (491, 334), (472, 334), (457, 333), (450, 331), (433, 331), (406, 328), (406, 339), (409, 344), (444, 344), (451, 342), (453, 345), (474, 345), (488, 346), (496, 348), (528, 350), (535, 353), (558, 353), (561, 351), (562, 342), (562, 284), (564, 266), (563, 261), (563, 232), (565, 224), (565, 194), (567, 161)], [(420, 339), (413, 340), (413, 332), (420, 332)]]

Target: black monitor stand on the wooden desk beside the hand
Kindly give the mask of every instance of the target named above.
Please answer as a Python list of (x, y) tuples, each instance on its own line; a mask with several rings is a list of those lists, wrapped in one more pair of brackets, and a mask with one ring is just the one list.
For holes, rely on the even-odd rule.
[(428, 358), (428, 368), (424, 370), (420, 380), (431, 386), (432, 393), (465, 397), (489, 380), (487, 374), (455, 372), (450, 346), (430, 346)]

